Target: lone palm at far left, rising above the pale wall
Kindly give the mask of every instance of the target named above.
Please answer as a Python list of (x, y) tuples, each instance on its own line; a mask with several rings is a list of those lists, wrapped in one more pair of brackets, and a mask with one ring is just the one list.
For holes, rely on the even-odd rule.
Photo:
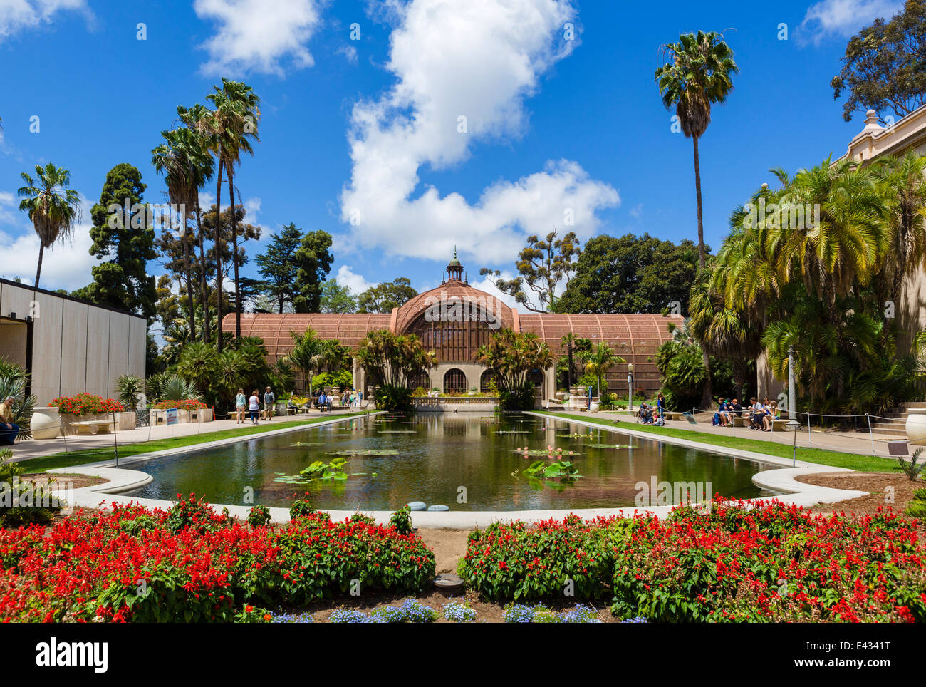
[(17, 194), (22, 200), (19, 209), (29, 213), (32, 226), (39, 237), (39, 267), (35, 270), (35, 288), (42, 276), (42, 258), (45, 248), (69, 239), (74, 227), (81, 221), (81, 197), (69, 189), (70, 172), (49, 162), (35, 166), (39, 185), (26, 172), (19, 176), (26, 185)]

